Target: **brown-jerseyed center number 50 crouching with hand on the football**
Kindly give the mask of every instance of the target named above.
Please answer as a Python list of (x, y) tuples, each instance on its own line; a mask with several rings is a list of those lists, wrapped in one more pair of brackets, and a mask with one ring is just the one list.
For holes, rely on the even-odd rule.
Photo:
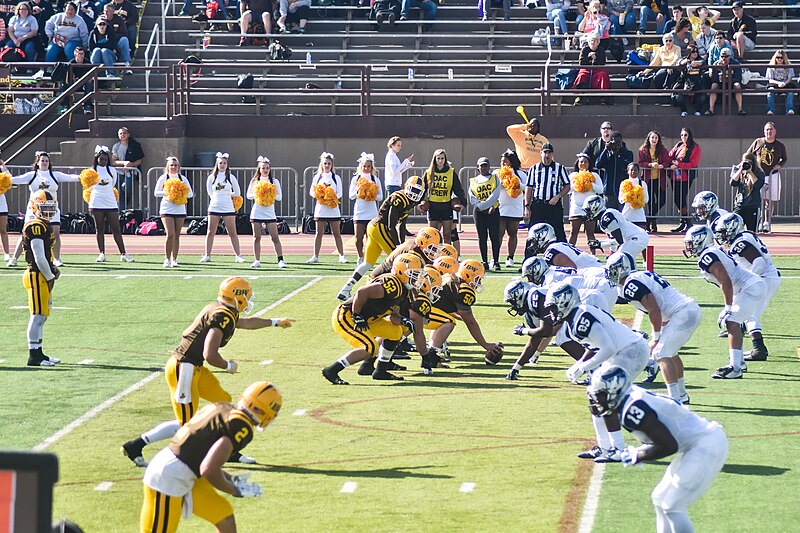
[[(503, 343), (488, 342), (481, 331), (481, 326), (472, 313), (472, 306), (480, 290), (485, 270), (480, 262), (467, 259), (458, 267), (455, 274), (450, 274), (442, 281), (439, 299), (433, 305), (425, 329), (433, 330), (429, 347), (437, 353), (443, 351), (444, 343), (456, 327), (455, 320), (462, 320), (470, 335), (487, 354), (502, 354)], [(446, 354), (445, 360), (447, 359)]]

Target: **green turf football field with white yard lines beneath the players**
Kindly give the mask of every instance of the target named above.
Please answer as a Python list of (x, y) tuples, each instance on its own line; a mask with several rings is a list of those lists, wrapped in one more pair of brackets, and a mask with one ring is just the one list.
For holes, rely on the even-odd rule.
[[(506, 344), (497, 367), (483, 363), (462, 324), (451, 337), (449, 369), (423, 376), (415, 357), (400, 372), (405, 381), (374, 382), (348, 368), (342, 377), (351, 386), (334, 387), (320, 369), (349, 349), (330, 316), (352, 265), (325, 258), (295, 266), (300, 258), (291, 257), (284, 271), (220, 264), (165, 271), (159, 256), (136, 259), (97, 265), (93, 256), (65, 257), (45, 326), (45, 353), (63, 360), (51, 369), (24, 366), (21, 271), (0, 271), (0, 448), (58, 455), (54, 518), (87, 532), (138, 530), (143, 470), (119, 446), (172, 417), (166, 358), (220, 280), (240, 274), (252, 278), (256, 312), (297, 320), (287, 330), (239, 331), (223, 349), (240, 362), (238, 374), (218, 374), (234, 397), (262, 379), (284, 397), (281, 415), (245, 450), (258, 464), (229, 468), (251, 471), (265, 491), (233, 502), (240, 531), (655, 529), (650, 492), (667, 462), (595, 472), (594, 463), (576, 458), (594, 432), (585, 389), (564, 376), (571, 360), (550, 348), (520, 381), (504, 379), (522, 347), (512, 334), (518, 319), (502, 302), (511, 274), (488, 274), (475, 307), (487, 340)], [(792, 531), (800, 519), (800, 261), (776, 262), (784, 277), (763, 317), (769, 360), (722, 382), (711, 379), (728, 358), (727, 340), (717, 338), (719, 289), (698, 277), (694, 261), (656, 263), (703, 308), (681, 352), (691, 408), (722, 424), (730, 440), (722, 473), (689, 510), (698, 531)], [(614, 314), (633, 318), (630, 307)], [(646, 319), (642, 329), (649, 331)], [(653, 386), (665, 391), (661, 376)], [(165, 444), (149, 446), (145, 457)], [(213, 528), (195, 518), (179, 530)]]

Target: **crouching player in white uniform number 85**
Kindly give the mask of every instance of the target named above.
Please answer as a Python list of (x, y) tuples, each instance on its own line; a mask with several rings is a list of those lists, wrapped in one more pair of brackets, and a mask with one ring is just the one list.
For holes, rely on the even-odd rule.
[[(545, 307), (553, 313), (556, 323), (563, 322), (572, 340), (588, 346), (583, 357), (567, 370), (567, 379), (577, 383), (596, 368), (603, 372), (610, 366), (620, 366), (629, 375), (638, 376), (650, 352), (644, 337), (606, 311), (581, 304), (579, 299), (577, 289), (564, 282), (553, 285), (545, 298)], [(592, 423), (597, 445), (578, 457), (597, 463), (619, 462), (625, 449), (619, 419), (592, 415)]]

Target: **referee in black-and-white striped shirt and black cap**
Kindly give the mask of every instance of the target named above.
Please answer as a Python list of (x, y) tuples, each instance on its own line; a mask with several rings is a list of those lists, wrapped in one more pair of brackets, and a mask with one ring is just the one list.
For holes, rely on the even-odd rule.
[(556, 239), (567, 242), (561, 199), (569, 193), (567, 169), (553, 160), (553, 145), (542, 145), (542, 162), (531, 167), (525, 188), (525, 218), (528, 227), (547, 222), (556, 230)]

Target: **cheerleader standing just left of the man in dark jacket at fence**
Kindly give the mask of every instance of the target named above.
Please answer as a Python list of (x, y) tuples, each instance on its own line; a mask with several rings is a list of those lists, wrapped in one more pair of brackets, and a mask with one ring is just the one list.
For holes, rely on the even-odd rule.
[(119, 204), (114, 193), (117, 172), (110, 166), (110, 162), (108, 147), (96, 146), (92, 168), (97, 172), (98, 181), (89, 189), (89, 214), (94, 218), (95, 238), (100, 251), (96, 261), (104, 263), (106, 260), (106, 224), (108, 224), (111, 234), (114, 236), (114, 242), (117, 243), (120, 261), (133, 263), (133, 257), (125, 252), (125, 243), (119, 228)]

